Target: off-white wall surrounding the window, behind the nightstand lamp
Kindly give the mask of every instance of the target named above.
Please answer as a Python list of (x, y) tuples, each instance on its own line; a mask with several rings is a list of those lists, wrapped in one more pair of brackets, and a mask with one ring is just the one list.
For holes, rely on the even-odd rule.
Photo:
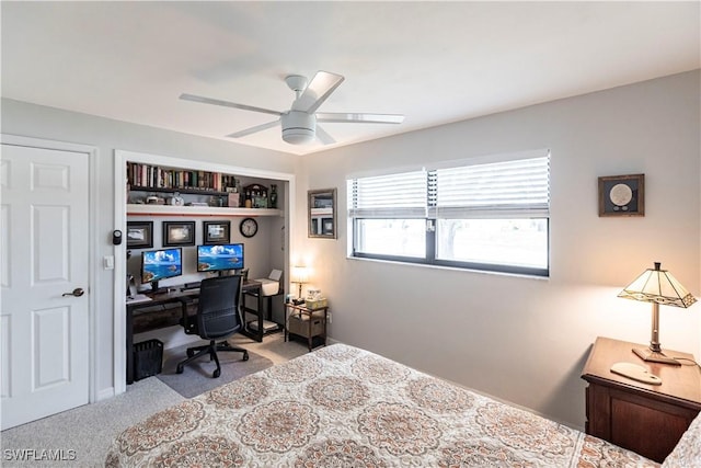
[[(306, 157), (298, 199), (338, 189), (338, 240), (298, 231), (294, 251), (332, 336), (583, 427), (596, 336), (650, 341), (651, 306), (618, 292), (655, 261), (701, 292), (699, 90), (697, 70)], [(538, 148), (552, 151), (549, 279), (345, 258), (346, 174)], [(597, 178), (631, 173), (645, 216), (598, 217)], [(663, 346), (701, 358), (701, 306), (662, 309)]]

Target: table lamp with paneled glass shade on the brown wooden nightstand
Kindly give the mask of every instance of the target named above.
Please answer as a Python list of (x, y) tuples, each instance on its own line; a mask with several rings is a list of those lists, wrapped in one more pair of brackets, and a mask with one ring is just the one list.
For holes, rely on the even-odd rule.
[(669, 273), (655, 262), (654, 269), (647, 269), (633, 283), (623, 288), (618, 297), (653, 304), (653, 327), (650, 347), (633, 349), (643, 361), (680, 365), (674, 357), (665, 356), (659, 345), (659, 305), (688, 308), (697, 299)]

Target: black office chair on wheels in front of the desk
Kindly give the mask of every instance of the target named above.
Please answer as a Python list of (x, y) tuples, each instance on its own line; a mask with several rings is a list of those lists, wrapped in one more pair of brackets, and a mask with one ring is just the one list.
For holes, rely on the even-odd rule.
[[(209, 354), (209, 361), (217, 363), (211, 374), (214, 378), (221, 375), (221, 366), (217, 357), (218, 351), (237, 351), (243, 353), (243, 361), (249, 361), (249, 352), (242, 347), (231, 346), (226, 341), (217, 343), (241, 330), (243, 327), (239, 313), (241, 304), (241, 275), (219, 276), (203, 279), (199, 285), (199, 303), (197, 315), (188, 316), (183, 311), (181, 324), (187, 334), (198, 334), (209, 344), (187, 349), (187, 358), (177, 364), (177, 374), (183, 373), (185, 364)], [(185, 308), (184, 308), (185, 309)]]

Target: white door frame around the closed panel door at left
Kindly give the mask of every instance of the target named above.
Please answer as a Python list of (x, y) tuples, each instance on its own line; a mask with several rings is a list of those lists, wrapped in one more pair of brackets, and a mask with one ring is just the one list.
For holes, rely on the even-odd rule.
[[(97, 169), (100, 150), (95, 146), (69, 141), (50, 140), (45, 138), (25, 137), (20, 135), (0, 134), (0, 144), (31, 148), (50, 149), (56, 151), (82, 152), (88, 155), (88, 398), (90, 403), (99, 400), (97, 396), (97, 304), (100, 304), (100, 288), (97, 287), (97, 207), (100, 194), (97, 191)], [(2, 156), (0, 155), (0, 160)], [(0, 297), (1, 297), (0, 292)]]

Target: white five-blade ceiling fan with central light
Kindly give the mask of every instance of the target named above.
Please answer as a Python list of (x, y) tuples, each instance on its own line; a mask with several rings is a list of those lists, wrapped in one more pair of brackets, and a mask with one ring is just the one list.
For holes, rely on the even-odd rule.
[(333, 123), (364, 123), (364, 124), (401, 124), (403, 115), (397, 114), (357, 114), (357, 113), (327, 113), (317, 112), (319, 106), (338, 88), (345, 78), (341, 75), (327, 71), (318, 71), (314, 78), (307, 84), (307, 78), (299, 75), (290, 75), (285, 82), (296, 93), (296, 99), (289, 111), (279, 112), (252, 105), (237, 104), (218, 99), (204, 98), (193, 94), (181, 94), (184, 101), (200, 102), (203, 104), (222, 105), (226, 107), (242, 109), (244, 111), (262, 112), (264, 114), (278, 115), (279, 118), (266, 124), (227, 135), (230, 138), (241, 138), (246, 135), (272, 128), (279, 122), (283, 127), (283, 139), (291, 145), (303, 145), (319, 138), (324, 145), (335, 140), (323, 128), (317, 126), (319, 122)]

